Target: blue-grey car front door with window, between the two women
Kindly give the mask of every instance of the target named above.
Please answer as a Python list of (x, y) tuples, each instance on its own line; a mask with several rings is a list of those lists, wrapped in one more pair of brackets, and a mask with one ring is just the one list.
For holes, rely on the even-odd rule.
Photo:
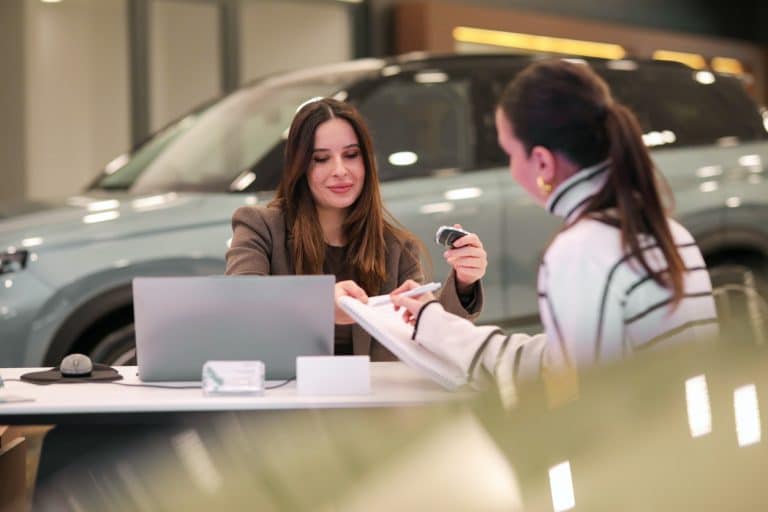
[(449, 271), (437, 228), (458, 223), (476, 232), (488, 253), (481, 320), (504, 319), (502, 195), (498, 171), (476, 166), (475, 82), (445, 67), (384, 74), (357, 103), (373, 135), (385, 206), (424, 242), (437, 280)]

